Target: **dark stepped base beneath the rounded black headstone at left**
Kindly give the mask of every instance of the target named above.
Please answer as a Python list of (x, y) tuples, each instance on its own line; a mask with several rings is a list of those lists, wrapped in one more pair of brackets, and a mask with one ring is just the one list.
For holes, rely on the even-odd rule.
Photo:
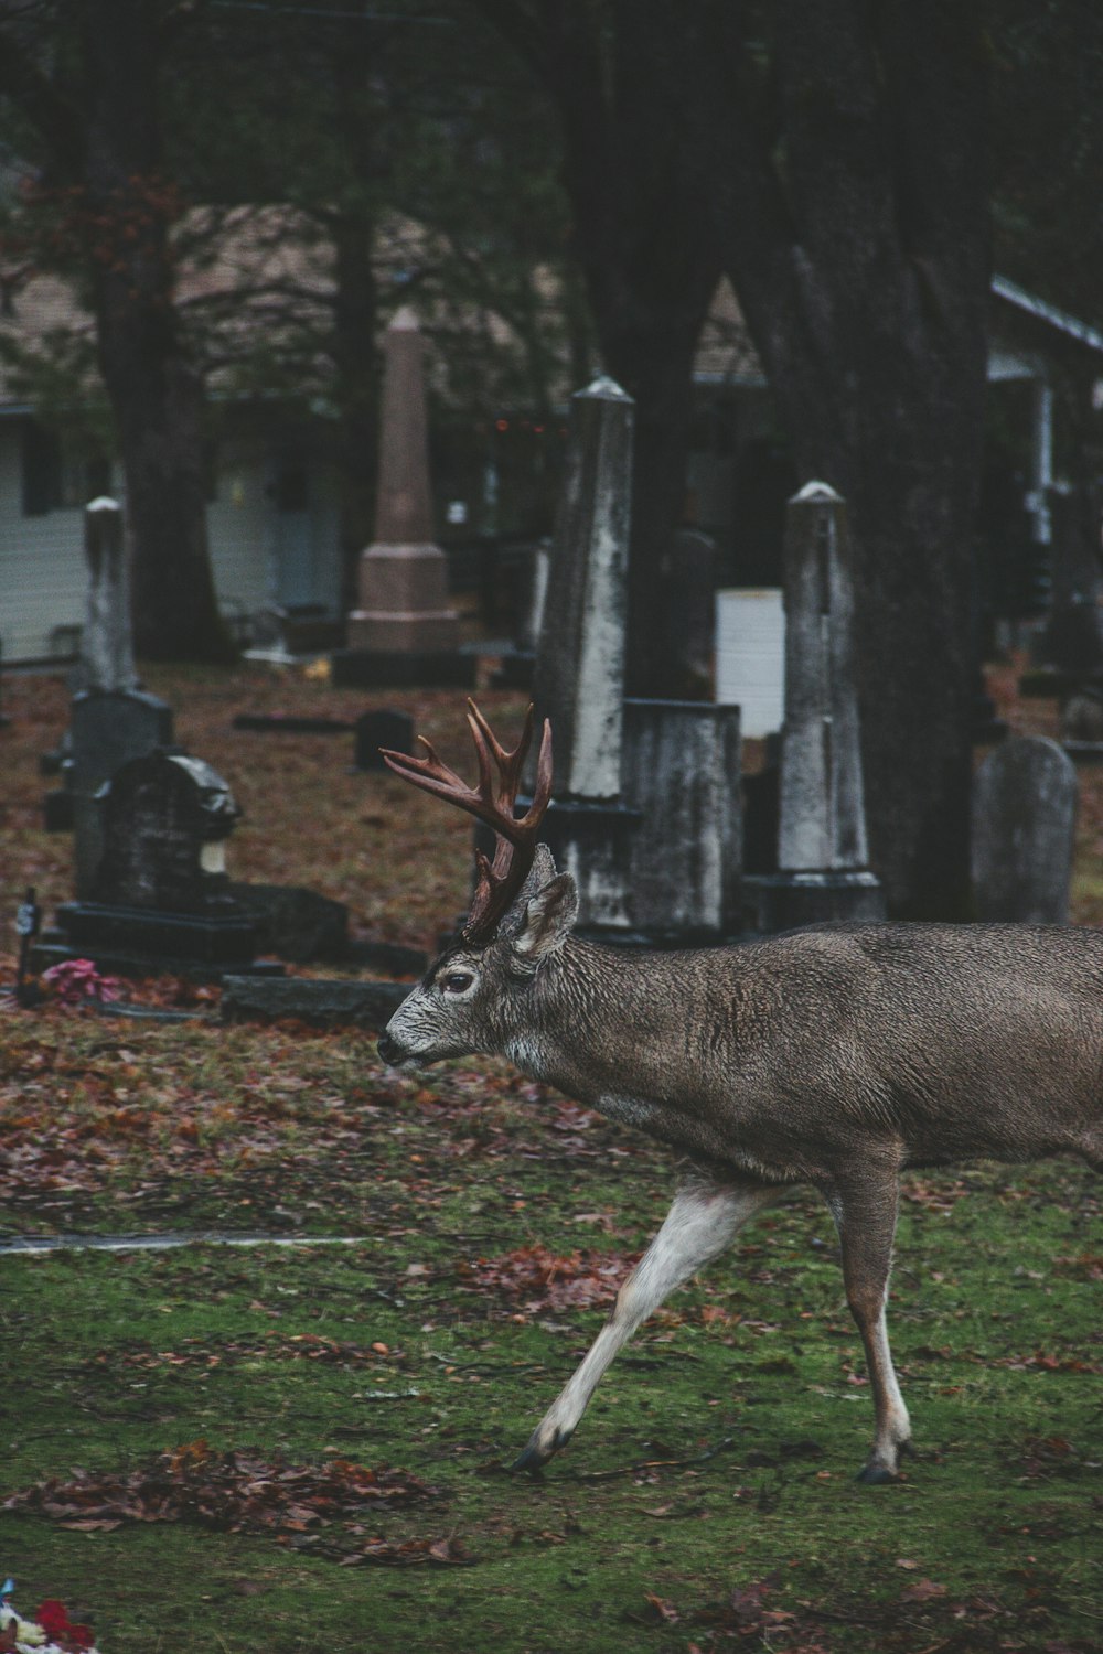
[(61, 959), (93, 959), (117, 976), (187, 976), (217, 981), (235, 973), (281, 976), (276, 959), (255, 959), (256, 925), (248, 913), (162, 913), (101, 901), (58, 908), (58, 928), (33, 951), (36, 969)]

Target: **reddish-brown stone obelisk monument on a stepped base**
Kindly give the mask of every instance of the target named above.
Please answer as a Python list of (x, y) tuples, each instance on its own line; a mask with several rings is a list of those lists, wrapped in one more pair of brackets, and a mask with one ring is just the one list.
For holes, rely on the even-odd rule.
[(347, 648), (332, 660), (334, 683), (470, 685), (475, 660), (458, 643), (448, 561), (433, 543), (422, 332), (403, 308), (384, 344), (375, 539), (361, 552), (357, 607)]

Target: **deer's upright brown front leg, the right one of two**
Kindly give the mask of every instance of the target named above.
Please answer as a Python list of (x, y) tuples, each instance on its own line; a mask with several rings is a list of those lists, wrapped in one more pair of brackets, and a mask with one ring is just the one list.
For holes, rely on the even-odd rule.
[(832, 1191), (828, 1206), (842, 1242), (847, 1303), (853, 1315), (873, 1388), (873, 1447), (860, 1482), (891, 1482), (900, 1454), (911, 1441), (911, 1424), (888, 1348), (885, 1302), (896, 1231), (896, 1178)]

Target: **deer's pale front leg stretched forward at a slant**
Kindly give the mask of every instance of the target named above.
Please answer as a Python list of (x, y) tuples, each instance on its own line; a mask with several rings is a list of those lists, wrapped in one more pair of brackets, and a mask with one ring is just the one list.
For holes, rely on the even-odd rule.
[(617, 1293), (617, 1303), (585, 1360), (532, 1431), (528, 1447), (513, 1464), (514, 1470), (537, 1470), (566, 1447), (602, 1373), (637, 1327), (675, 1287), (718, 1257), (747, 1217), (779, 1193), (751, 1179), (721, 1184), (701, 1178), (678, 1189), (663, 1227)]

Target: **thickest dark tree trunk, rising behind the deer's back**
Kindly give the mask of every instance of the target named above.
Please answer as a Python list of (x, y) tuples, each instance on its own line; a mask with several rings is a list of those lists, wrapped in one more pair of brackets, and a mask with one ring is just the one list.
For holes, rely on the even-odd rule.
[(873, 863), (890, 910), (966, 916), (974, 504), (987, 316), (984, 43), (969, 5), (790, 0), (774, 18), (784, 155), (711, 7), (698, 155), (804, 480), (850, 501)]

